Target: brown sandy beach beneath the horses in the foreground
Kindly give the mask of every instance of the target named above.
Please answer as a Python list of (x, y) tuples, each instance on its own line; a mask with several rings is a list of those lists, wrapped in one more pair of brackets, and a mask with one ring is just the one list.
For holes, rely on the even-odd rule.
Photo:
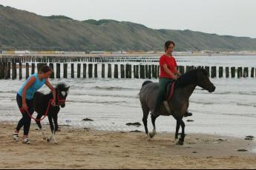
[[(0, 169), (255, 169), (255, 141), (188, 134), (184, 146), (174, 135), (159, 133), (145, 140), (144, 132), (107, 132), (61, 126), (58, 144), (30, 128), (30, 145), (12, 139), (15, 123), (0, 123)], [(46, 127), (50, 137), (50, 129)], [(22, 131), (20, 133), (22, 138)], [(237, 152), (246, 149), (249, 152)]]

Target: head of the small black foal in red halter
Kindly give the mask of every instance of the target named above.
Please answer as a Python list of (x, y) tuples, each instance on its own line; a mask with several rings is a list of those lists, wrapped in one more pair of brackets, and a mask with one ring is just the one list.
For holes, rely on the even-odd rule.
[(70, 86), (66, 86), (65, 84), (57, 84), (56, 86), (56, 104), (61, 106), (62, 108), (65, 107), (66, 98), (68, 96), (68, 89)]

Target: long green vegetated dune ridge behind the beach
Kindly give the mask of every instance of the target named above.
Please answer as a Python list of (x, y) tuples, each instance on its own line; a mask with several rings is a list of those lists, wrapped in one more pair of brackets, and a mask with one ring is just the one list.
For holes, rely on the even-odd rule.
[(39, 16), (0, 5), (0, 50), (151, 51), (163, 50), (166, 40), (175, 41), (177, 51), (256, 50), (255, 38), (154, 30), (128, 21), (76, 21), (67, 16)]

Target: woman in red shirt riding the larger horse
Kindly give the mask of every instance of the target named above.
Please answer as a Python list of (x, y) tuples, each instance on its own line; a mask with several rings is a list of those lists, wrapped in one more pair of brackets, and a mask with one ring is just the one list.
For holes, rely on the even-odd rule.
[[(157, 111), (160, 109), (161, 103), (167, 94), (166, 89), (168, 84), (176, 81), (180, 77), (180, 72), (177, 70), (177, 63), (175, 58), (172, 56), (174, 51), (175, 43), (173, 41), (165, 42), (165, 54), (160, 57), (160, 79), (159, 79), (159, 94), (157, 96), (157, 102), (155, 103), (154, 109), (151, 115), (157, 116)], [(184, 117), (191, 116), (190, 112), (186, 112)]]

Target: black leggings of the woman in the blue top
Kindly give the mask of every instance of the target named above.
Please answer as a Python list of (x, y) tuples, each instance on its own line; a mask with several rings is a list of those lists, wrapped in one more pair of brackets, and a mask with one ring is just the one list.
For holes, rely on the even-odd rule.
[[(16, 101), (18, 103), (19, 109), (22, 108), (22, 97), (17, 94), (16, 96)], [(34, 106), (33, 106), (33, 99), (32, 100), (26, 100), (27, 102), (27, 107), (28, 107), (28, 112), (30, 115), (33, 115), (34, 112)], [(28, 135), (28, 132), (30, 131), (30, 123), (31, 123), (31, 118), (29, 115), (27, 115), (27, 112), (22, 112), (22, 119), (19, 120), (19, 123), (16, 127), (16, 130), (19, 132), (19, 130), (24, 126), (24, 135)]]

